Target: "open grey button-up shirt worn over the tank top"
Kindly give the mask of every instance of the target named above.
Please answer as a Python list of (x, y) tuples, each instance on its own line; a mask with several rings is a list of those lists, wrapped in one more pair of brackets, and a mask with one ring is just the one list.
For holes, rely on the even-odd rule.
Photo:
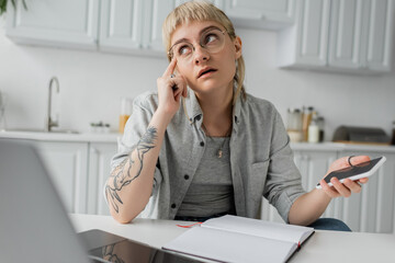
[[(206, 137), (201, 127), (203, 113), (189, 90), (165, 133), (154, 175), (153, 193), (138, 217), (173, 219), (201, 162)], [(158, 95), (146, 92), (134, 100), (133, 114), (119, 141), (119, 153), (111, 162), (114, 169), (146, 133), (158, 106)], [(230, 168), (238, 216), (259, 218), (262, 196), (284, 219), (293, 202), (305, 193), (295, 167), (290, 139), (273, 104), (247, 94), (234, 105), (230, 136)], [(185, 176), (189, 175), (189, 176)]]

